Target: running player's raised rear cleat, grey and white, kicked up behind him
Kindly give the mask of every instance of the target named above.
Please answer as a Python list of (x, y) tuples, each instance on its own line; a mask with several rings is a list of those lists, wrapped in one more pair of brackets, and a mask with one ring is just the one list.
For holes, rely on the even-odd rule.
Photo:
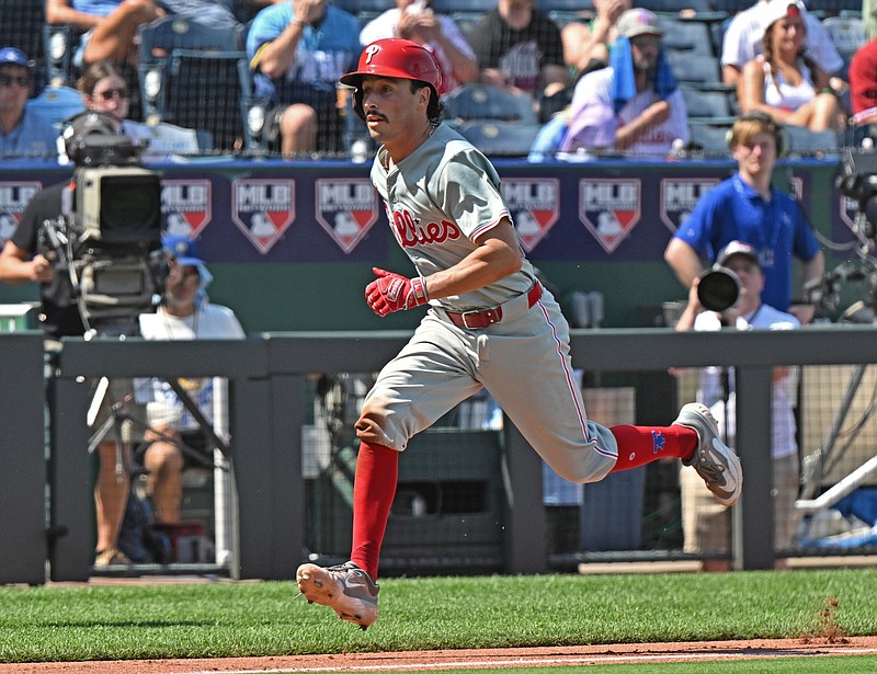
[(709, 408), (690, 402), (682, 408), (673, 425), (692, 429), (701, 438), (692, 458), (682, 462), (697, 471), (716, 501), (733, 505), (743, 490), (743, 468), (733, 449), (719, 439), (719, 425)]

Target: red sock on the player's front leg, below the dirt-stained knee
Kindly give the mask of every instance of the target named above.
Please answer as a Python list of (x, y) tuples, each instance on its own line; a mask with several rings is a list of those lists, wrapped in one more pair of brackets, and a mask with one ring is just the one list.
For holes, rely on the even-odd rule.
[(377, 579), (380, 544), (399, 478), (399, 453), (362, 442), (353, 479), (353, 549), (351, 561)]

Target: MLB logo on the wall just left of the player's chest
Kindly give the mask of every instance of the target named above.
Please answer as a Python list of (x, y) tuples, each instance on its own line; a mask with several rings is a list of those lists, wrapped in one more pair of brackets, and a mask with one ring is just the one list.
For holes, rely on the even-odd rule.
[(365, 178), (315, 182), (317, 221), (350, 253), (377, 220), (377, 192)]

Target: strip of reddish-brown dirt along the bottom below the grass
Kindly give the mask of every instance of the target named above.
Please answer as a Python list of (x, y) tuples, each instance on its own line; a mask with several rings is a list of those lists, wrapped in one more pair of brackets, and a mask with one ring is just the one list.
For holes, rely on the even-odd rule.
[(789, 658), (804, 655), (877, 654), (877, 637), (703, 641), (693, 643), (627, 643), (399, 653), (350, 653), (216, 660), (132, 660), (0, 664), (0, 674), (207, 674), (213, 672), (362, 672), (372, 670), (441, 670), (452, 667), (519, 667), (646, 662), (691, 662)]

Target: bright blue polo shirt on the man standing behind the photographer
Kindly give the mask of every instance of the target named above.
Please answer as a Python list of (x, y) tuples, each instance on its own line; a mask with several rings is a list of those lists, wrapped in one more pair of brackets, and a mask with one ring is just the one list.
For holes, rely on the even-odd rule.
[(771, 201), (765, 202), (739, 173), (709, 190), (675, 237), (709, 264), (731, 241), (754, 247), (764, 270), (762, 301), (781, 310), (791, 301), (791, 258), (808, 262), (820, 250), (796, 199), (772, 187)]

